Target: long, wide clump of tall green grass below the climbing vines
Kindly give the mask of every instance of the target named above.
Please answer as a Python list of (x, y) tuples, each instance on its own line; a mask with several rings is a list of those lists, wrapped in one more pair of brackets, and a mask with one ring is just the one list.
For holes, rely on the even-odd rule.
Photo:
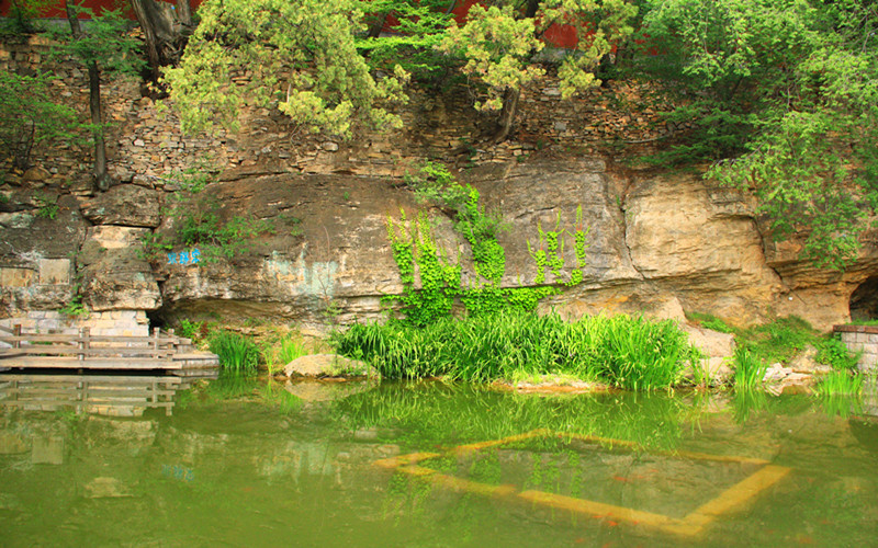
[(384, 378), (484, 383), (561, 374), (644, 390), (675, 385), (699, 357), (671, 321), (597, 316), (569, 322), (520, 311), (442, 318), (424, 328), (357, 324), (337, 333), (334, 344)]

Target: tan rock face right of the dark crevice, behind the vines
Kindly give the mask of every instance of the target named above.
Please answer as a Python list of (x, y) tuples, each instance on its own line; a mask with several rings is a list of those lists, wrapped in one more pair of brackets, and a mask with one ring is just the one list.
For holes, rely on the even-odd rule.
[[(345, 323), (380, 317), (381, 297), (401, 292), (387, 219), (429, 209), (409, 191), (346, 175), (257, 171), (225, 179), (205, 191), (225, 204), (223, 215), (281, 228), (240, 258), (161, 265), (162, 313)], [(876, 260), (864, 255), (844, 276), (777, 259), (774, 248), (769, 262), (753, 204), (695, 174), (622, 174), (600, 159), (583, 159), (489, 164), (461, 172), (460, 180), (477, 187), (508, 227), (499, 237), (506, 286), (537, 279), (528, 246), (540, 246), (542, 229), (565, 235), (565, 269), (558, 279), (545, 272), (547, 283), (563, 287), (576, 261), (571, 235), (588, 230), (584, 283), (544, 304), (573, 317), (610, 311), (683, 319), (685, 311), (699, 311), (746, 324), (775, 310), (828, 329), (846, 319), (849, 294)], [(464, 281), (473, 279), (469, 246), (442, 212), (430, 215), (446, 256), (459, 256)], [(282, 220), (291, 217), (299, 230), (284, 230)], [(168, 222), (162, 230), (171, 230)], [(810, 300), (819, 306), (796, 306), (803, 296), (819, 296)]]

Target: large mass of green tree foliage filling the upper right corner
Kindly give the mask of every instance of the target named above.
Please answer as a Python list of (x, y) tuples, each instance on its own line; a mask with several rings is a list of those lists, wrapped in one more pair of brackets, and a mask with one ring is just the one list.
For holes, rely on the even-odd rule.
[(653, 0), (643, 58), (685, 98), (693, 127), (662, 161), (721, 160), (708, 176), (753, 190), (774, 237), (819, 266), (856, 258), (878, 187), (878, 7), (844, 0)]

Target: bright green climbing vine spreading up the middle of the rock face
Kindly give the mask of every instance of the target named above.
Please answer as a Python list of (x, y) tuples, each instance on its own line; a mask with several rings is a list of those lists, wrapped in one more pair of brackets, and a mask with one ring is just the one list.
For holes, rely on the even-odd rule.
[[(555, 284), (564, 276), (565, 236), (573, 238), (576, 267), (563, 283), (573, 286), (582, 283), (588, 229), (582, 221), (582, 208), (576, 210), (576, 228), (573, 232), (560, 230), (559, 214), (555, 228), (539, 231), (539, 248), (528, 250), (538, 266), (536, 286), (502, 287), (506, 273), (506, 252), (497, 241), (503, 224), (498, 215), (488, 213), (480, 205), (479, 191), (471, 185), (461, 185), (438, 163), (428, 162), (406, 182), (423, 199), (432, 202), (443, 210), (453, 210), (454, 230), (470, 244), (475, 279), (463, 283), (460, 258), (451, 262), (436, 243), (427, 215), (407, 221), (405, 214), (398, 221), (387, 217), (387, 238), (393, 258), (399, 269), (403, 295), (391, 297), (402, 305), (405, 321), (415, 326), (427, 326), (438, 318), (451, 313), (457, 301), (470, 316), (483, 316), (500, 310), (532, 311), (539, 301), (560, 293), (556, 285), (545, 284), (547, 266), (554, 275)], [(417, 274), (417, 276), (416, 276)]]

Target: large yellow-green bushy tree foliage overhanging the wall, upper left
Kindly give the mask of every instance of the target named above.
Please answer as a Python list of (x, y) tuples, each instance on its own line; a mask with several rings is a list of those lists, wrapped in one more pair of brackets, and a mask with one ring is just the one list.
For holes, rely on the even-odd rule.
[(204, 2), (180, 66), (164, 77), (182, 129), (236, 128), (244, 104), (277, 105), (314, 133), (350, 137), (354, 121), (399, 127), (378, 103), (404, 101), (408, 76), (370, 73), (353, 38), (361, 10), (353, 0)]

